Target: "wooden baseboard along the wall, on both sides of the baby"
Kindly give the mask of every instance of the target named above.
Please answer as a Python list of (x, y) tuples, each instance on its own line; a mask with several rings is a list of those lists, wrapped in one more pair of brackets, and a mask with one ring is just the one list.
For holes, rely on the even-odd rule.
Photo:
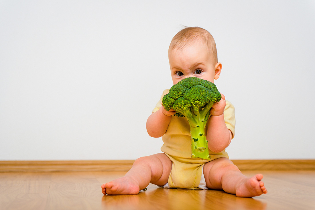
[[(127, 172), (134, 161), (0, 161), (5, 172)], [(241, 171), (315, 170), (315, 160), (232, 160)]]

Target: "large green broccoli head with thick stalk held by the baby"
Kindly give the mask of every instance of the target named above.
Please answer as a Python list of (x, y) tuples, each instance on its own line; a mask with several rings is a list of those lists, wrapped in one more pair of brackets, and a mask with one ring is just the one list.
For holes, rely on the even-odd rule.
[(163, 96), (165, 110), (174, 109), (175, 116), (185, 116), (190, 125), (192, 158), (210, 160), (205, 126), (210, 116), (210, 109), (221, 94), (214, 83), (198, 77), (187, 77), (173, 85), (169, 93)]

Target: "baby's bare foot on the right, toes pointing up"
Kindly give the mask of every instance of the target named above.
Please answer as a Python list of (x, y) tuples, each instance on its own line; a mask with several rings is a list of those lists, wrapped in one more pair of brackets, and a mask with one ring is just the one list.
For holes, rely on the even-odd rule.
[(245, 179), (236, 189), (236, 196), (238, 197), (254, 197), (266, 194), (267, 189), (264, 183), (261, 181), (262, 174), (256, 174), (251, 178)]

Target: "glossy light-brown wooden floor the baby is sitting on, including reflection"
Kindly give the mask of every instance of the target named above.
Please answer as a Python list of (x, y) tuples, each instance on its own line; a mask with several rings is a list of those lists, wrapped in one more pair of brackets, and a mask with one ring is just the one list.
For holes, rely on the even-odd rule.
[(262, 172), (268, 193), (254, 198), (151, 184), (138, 195), (103, 196), (101, 184), (124, 173), (0, 173), (0, 209), (315, 209), (315, 171)]

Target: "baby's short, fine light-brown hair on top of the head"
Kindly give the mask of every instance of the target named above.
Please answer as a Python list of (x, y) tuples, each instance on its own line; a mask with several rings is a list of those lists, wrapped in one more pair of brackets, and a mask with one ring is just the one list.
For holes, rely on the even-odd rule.
[(215, 64), (218, 62), (218, 54), (216, 50), (215, 40), (209, 31), (200, 27), (186, 27), (179, 31), (172, 39), (169, 45), (170, 50), (180, 50), (187, 45), (203, 42), (208, 48), (210, 56), (212, 56)]

